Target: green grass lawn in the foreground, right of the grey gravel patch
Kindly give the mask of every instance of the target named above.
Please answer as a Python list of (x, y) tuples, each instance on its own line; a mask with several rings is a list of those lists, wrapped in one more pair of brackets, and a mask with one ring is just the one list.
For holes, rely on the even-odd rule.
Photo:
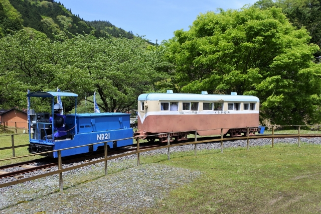
[(202, 176), (174, 189), (142, 213), (319, 213), (321, 146), (289, 144), (174, 153), (141, 158), (199, 170)]

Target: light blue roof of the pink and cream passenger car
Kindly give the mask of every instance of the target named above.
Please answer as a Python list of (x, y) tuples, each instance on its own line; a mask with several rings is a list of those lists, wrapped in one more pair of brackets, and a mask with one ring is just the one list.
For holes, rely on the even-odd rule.
[(259, 98), (250, 95), (195, 94), (195, 93), (143, 93), (138, 101), (177, 100), (177, 101), (248, 101), (259, 102)]

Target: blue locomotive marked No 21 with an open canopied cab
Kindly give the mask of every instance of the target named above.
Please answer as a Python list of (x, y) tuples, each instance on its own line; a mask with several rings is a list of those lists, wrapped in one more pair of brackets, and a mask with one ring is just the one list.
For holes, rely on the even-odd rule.
[[(27, 94), (29, 109), (29, 152), (32, 154), (65, 149), (87, 144), (84, 147), (67, 149), (61, 151), (61, 156), (70, 156), (97, 151), (104, 147), (104, 143), (108, 141), (108, 149), (128, 146), (133, 144), (131, 138), (133, 130), (130, 128), (130, 114), (123, 113), (86, 113), (64, 115), (57, 117), (54, 114), (54, 100), (56, 96), (75, 97), (75, 105), (77, 107), (77, 94), (70, 92), (31, 92)], [(49, 97), (52, 103), (52, 113), (35, 113), (30, 109), (31, 97)], [(54, 117), (51, 117), (54, 115)], [(56, 116), (56, 117), (55, 117)], [(60, 119), (60, 122), (58, 119)], [(61, 122), (64, 121), (64, 122)], [(66, 133), (65, 139), (55, 139), (53, 133), (57, 132), (57, 125), (64, 126), (63, 132)], [(59, 130), (62, 132), (61, 130)], [(49, 137), (53, 136), (53, 137)], [(52, 138), (52, 139), (50, 139)], [(124, 139), (124, 140), (119, 140)], [(95, 144), (102, 142), (101, 144)], [(57, 158), (57, 152), (47, 153), (46, 156)]]

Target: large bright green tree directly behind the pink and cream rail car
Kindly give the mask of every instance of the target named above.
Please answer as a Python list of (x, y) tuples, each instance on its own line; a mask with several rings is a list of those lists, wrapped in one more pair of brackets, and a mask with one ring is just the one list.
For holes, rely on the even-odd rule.
[(262, 121), (297, 125), (320, 121), (319, 48), (309, 39), (280, 8), (250, 7), (201, 14), (164, 45), (178, 90), (256, 95)]

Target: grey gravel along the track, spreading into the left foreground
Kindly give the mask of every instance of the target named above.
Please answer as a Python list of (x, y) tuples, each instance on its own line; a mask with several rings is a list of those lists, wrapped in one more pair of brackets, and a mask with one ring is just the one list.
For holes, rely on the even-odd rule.
[[(297, 144), (297, 138), (274, 139), (274, 143), (278, 142)], [(321, 144), (321, 138), (301, 138), (301, 142)], [(250, 140), (250, 146), (263, 145), (271, 145), (271, 139)], [(246, 146), (246, 140), (224, 142), (224, 148)], [(193, 149), (194, 145), (175, 146), (171, 152)], [(198, 144), (197, 149), (221, 149), (221, 145)], [(154, 154), (167, 154), (167, 149), (143, 152), (141, 156)], [(153, 206), (174, 188), (201, 175), (199, 171), (161, 164), (136, 166), (136, 157), (108, 161), (108, 176), (104, 176), (104, 163), (67, 171), (63, 173), (63, 192), (59, 192), (58, 175), (0, 188), (0, 213), (123, 213), (127, 209)], [(0, 182), (12, 180), (15, 178), (3, 178)]]

